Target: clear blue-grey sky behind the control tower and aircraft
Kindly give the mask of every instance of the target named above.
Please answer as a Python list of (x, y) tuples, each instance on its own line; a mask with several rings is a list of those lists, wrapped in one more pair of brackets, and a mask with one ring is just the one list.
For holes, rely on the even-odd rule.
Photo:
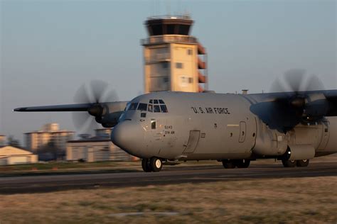
[(267, 92), (293, 68), (337, 89), (337, 1), (0, 0), (0, 134), (23, 140), (44, 123), (75, 130), (71, 113), (13, 108), (74, 103), (92, 79), (119, 100), (144, 91), (140, 40), (149, 16), (188, 12), (208, 51), (209, 89)]

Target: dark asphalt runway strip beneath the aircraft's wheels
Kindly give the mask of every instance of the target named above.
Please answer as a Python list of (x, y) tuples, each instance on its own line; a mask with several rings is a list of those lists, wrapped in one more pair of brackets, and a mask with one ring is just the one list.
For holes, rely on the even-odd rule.
[(224, 169), (222, 165), (166, 166), (161, 172), (60, 174), (33, 177), (1, 177), (0, 194), (40, 193), (69, 189), (147, 186), (210, 181), (271, 178), (336, 177), (337, 162), (314, 162), (309, 167), (284, 168), (279, 164), (254, 164), (247, 169)]

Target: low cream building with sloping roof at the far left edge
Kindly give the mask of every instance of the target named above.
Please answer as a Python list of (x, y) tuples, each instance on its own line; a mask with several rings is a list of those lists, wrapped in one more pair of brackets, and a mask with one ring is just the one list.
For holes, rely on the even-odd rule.
[(26, 164), (38, 162), (38, 155), (19, 147), (2, 146), (0, 147), (0, 165)]

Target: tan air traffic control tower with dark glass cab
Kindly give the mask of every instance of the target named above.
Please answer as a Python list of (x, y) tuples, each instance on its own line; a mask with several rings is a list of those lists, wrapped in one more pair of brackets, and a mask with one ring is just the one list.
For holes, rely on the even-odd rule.
[(207, 86), (207, 55), (190, 35), (189, 16), (154, 16), (145, 21), (149, 38), (144, 46), (145, 93), (153, 91), (203, 92)]

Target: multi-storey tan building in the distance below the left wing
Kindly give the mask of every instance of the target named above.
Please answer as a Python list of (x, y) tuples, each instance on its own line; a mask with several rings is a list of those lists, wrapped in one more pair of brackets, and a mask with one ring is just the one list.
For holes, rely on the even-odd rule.
[(37, 152), (46, 146), (53, 146), (65, 151), (66, 143), (73, 140), (74, 133), (69, 130), (60, 130), (58, 123), (48, 123), (43, 125), (41, 130), (25, 133), (26, 147), (31, 152)]

